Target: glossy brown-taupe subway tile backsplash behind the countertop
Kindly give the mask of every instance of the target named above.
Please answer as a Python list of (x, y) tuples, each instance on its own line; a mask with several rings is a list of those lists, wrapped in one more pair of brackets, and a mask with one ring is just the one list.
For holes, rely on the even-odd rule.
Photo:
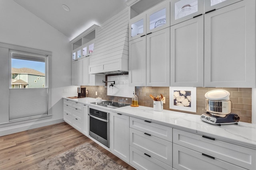
[[(132, 98), (108, 96), (107, 88), (104, 86), (81, 86), (86, 87), (88, 90), (87, 97), (97, 98), (101, 97), (104, 100), (113, 100), (115, 102), (132, 103)], [(204, 94), (210, 90), (224, 89), (230, 92), (231, 111), (238, 114), (240, 121), (251, 123), (252, 122), (252, 88), (196, 88), (196, 113), (188, 111), (180, 111), (185, 113), (201, 115), (206, 112), (205, 110), (205, 97)], [(98, 92), (98, 95), (95, 95)], [(169, 108), (170, 96), (169, 87), (135, 87), (135, 93), (138, 96), (138, 104), (140, 106), (153, 107), (153, 100), (149, 97), (150, 94), (158, 96), (162, 94), (166, 97), (164, 109), (172, 110)], [(177, 110), (179, 111), (179, 110)]]

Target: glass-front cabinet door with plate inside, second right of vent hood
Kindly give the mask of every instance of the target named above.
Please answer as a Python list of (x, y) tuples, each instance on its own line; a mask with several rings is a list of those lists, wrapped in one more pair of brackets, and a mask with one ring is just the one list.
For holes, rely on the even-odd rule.
[(165, 2), (150, 9), (146, 16), (147, 34), (170, 26), (170, 2)]

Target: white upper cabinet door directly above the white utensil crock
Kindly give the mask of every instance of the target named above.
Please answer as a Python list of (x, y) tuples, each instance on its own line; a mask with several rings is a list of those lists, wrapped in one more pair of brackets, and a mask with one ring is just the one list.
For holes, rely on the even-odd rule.
[(146, 36), (146, 85), (170, 86), (170, 27)]

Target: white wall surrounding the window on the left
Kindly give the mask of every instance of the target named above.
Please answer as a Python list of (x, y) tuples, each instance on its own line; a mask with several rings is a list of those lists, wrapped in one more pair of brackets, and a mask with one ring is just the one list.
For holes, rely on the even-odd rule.
[[(52, 114), (52, 118), (34, 123), (2, 127), (0, 128), (0, 136), (63, 121), (62, 97), (66, 96), (63, 89), (68, 89), (69, 95), (76, 95), (74, 90), (76, 88), (71, 86), (71, 44), (68, 37), (12, 0), (0, 0), (0, 21), (1, 43), (52, 52), (52, 57), (48, 59), (49, 94), (51, 94), (49, 96), (49, 113)], [(0, 63), (6, 62), (6, 58), (3, 57), (0, 56)], [(0, 73), (0, 78), (3, 77)], [(8, 84), (10, 80), (6, 80), (5, 77), (1, 81)], [(0, 94), (6, 94), (2, 90), (8, 89), (0, 88)], [(8, 98), (8, 96), (1, 96), (1, 98)], [(2, 114), (6, 113), (0, 112), (0, 117)]]

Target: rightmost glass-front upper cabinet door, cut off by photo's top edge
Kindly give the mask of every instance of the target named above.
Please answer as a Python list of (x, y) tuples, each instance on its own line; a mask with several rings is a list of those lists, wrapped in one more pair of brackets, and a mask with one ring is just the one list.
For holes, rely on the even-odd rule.
[(234, 4), (241, 0), (204, 0), (204, 13), (211, 12), (212, 10), (217, 10), (224, 6)]

